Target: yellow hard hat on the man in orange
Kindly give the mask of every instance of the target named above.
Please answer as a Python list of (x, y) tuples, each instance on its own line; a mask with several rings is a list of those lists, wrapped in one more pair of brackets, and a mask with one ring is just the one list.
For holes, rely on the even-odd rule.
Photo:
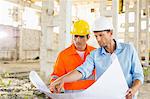
[(78, 20), (74, 23), (73, 29), (70, 34), (82, 36), (90, 34), (90, 26), (86, 21)]

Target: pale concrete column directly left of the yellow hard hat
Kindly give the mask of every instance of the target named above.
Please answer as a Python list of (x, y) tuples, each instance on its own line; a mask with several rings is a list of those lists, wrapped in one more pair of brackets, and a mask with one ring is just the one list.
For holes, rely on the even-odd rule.
[(60, 0), (59, 51), (71, 42), (72, 0)]

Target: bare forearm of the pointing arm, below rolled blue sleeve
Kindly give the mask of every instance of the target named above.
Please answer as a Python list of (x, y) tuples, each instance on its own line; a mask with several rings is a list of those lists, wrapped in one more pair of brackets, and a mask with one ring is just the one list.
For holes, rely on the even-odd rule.
[(82, 74), (77, 70), (73, 70), (61, 77), (64, 83), (77, 81), (80, 80), (81, 78), (82, 78)]

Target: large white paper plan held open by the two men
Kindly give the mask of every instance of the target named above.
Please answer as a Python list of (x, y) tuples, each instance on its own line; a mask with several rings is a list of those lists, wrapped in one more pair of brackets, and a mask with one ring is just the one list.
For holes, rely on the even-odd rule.
[(103, 75), (89, 88), (77, 93), (50, 93), (36, 72), (31, 71), (29, 78), (33, 85), (52, 99), (125, 99), (128, 85), (124, 78), (118, 58), (115, 58)]

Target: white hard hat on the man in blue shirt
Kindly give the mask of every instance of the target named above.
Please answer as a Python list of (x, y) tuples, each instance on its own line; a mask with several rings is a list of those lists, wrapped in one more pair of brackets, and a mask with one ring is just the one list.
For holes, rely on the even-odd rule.
[(93, 31), (112, 30), (112, 22), (106, 17), (99, 17), (94, 21)]

